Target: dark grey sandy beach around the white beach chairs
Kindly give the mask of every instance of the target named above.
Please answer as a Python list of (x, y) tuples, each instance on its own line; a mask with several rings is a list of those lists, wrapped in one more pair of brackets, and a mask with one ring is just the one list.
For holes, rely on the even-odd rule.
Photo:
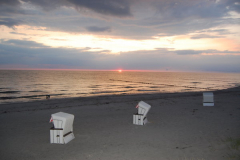
[[(237, 160), (240, 87), (213, 93), (213, 107), (203, 107), (202, 92), (1, 104), (0, 159)], [(149, 123), (137, 126), (141, 100), (152, 108)], [(60, 111), (74, 114), (75, 139), (50, 144), (49, 119)]]

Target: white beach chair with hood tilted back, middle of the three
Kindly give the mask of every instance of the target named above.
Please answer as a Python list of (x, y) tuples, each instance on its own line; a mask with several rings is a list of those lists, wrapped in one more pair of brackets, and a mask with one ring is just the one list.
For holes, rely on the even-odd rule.
[(133, 115), (133, 124), (145, 125), (148, 122), (147, 114), (151, 109), (151, 106), (143, 101), (140, 101), (136, 108), (138, 108), (138, 112)]

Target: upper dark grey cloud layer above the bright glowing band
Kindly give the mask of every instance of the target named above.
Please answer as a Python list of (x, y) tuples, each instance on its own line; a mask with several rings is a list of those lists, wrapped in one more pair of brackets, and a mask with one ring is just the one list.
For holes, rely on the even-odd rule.
[[(22, 2), (23, 5), (31, 4), (42, 10), (34, 12), (31, 8), (24, 9), (21, 7)], [(96, 34), (108, 31), (106, 35), (119, 38), (150, 39), (157, 35), (183, 35), (229, 23), (238, 24), (238, 19), (223, 17), (228, 16), (230, 11), (240, 13), (238, 0), (22, 0), (22, 2), (0, 0), (0, 25), (8, 27), (20, 24), (41, 25), (49, 30), (78, 33), (87, 29)], [(76, 12), (78, 16), (70, 11), (61, 13), (60, 9), (63, 9), (61, 7), (65, 7), (65, 10), (74, 8), (75, 12), (79, 11)], [(88, 11), (95, 14), (88, 14)], [(53, 20), (52, 16), (58, 18)], [(89, 19), (86, 20), (87, 18)], [(199, 38), (202, 37), (192, 37)]]

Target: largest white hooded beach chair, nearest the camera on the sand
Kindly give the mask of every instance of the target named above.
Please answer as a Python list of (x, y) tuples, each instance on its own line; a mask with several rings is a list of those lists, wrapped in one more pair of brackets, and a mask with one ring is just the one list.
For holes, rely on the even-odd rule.
[(50, 122), (53, 127), (50, 128), (50, 143), (67, 144), (73, 140), (73, 121), (74, 115), (58, 112), (51, 115)]

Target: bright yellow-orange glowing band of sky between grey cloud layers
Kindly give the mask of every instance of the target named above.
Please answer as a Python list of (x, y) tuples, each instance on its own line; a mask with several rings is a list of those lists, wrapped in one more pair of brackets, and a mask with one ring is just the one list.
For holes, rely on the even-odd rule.
[[(0, 27), (1, 37), (7, 39), (28, 39), (36, 43), (53, 48), (89, 48), (89, 51), (107, 51), (109, 54), (119, 54), (131, 51), (154, 51), (156, 48), (169, 48), (173, 50), (239, 50), (240, 39), (225, 37), (218, 39), (191, 39), (191, 34), (185, 36), (167, 36), (148, 40), (104, 38), (88, 34), (71, 34), (60, 31), (47, 31), (42, 27), (20, 25), (15, 29)], [(20, 34), (12, 34), (18, 31)], [(37, 32), (37, 34), (36, 34)], [(237, 31), (236, 31), (237, 32)], [(62, 38), (64, 37), (64, 38)]]

